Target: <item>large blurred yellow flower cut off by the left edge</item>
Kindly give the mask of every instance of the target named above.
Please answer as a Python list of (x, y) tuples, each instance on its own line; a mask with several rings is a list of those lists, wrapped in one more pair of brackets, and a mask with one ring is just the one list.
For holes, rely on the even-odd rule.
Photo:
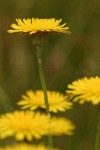
[(32, 111), (15, 111), (0, 117), (0, 138), (14, 136), (17, 140), (31, 141), (48, 134), (50, 117)]

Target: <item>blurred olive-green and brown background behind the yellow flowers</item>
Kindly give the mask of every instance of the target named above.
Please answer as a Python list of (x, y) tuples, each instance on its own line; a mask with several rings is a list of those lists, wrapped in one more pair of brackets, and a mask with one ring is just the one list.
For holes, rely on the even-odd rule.
[[(41, 89), (35, 48), (29, 36), (9, 34), (15, 18), (63, 19), (72, 32), (50, 34), (43, 53), (47, 88), (62, 93), (82, 77), (100, 74), (99, 0), (0, 0), (0, 113), (19, 109), (26, 90)], [(94, 150), (99, 112), (91, 104), (74, 104), (61, 116), (76, 125), (73, 136), (54, 138), (61, 150)], [(0, 141), (0, 145), (11, 143)]]

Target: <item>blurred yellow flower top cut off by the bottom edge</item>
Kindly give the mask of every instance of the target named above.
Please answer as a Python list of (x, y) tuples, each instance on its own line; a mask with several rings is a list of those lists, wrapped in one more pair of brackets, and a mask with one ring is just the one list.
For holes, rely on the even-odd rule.
[(0, 150), (57, 150), (57, 149), (49, 149), (48, 147), (44, 145), (29, 145), (29, 144), (16, 144), (16, 145), (10, 145), (6, 147), (0, 147)]

